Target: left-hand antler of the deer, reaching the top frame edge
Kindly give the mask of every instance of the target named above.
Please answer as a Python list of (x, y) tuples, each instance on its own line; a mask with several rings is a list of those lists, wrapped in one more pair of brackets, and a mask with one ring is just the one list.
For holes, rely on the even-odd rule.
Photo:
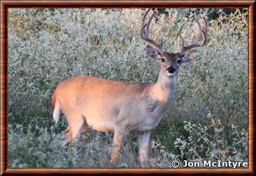
[(150, 37), (148, 36), (148, 29), (150, 26), (150, 22), (152, 21), (153, 17), (156, 15), (156, 13), (154, 12), (152, 14), (152, 16), (149, 18), (148, 23), (145, 22), (146, 16), (149, 12), (150, 8), (147, 9), (147, 11), (145, 11), (145, 14), (142, 17), (142, 23), (141, 23), (141, 37), (143, 40), (149, 42), (150, 44), (152, 44), (153, 46), (155, 46), (159, 51), (162, 50), (162, 39), (160, 44), (156, 43), (154, 40), (150, 39)]

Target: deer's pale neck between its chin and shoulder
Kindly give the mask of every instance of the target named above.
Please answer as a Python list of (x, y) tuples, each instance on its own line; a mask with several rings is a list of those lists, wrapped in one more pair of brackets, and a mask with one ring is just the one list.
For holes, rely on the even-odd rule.
[(150, 92), (154, 98), (161, 102), (170, 103), (174, 95), (175, 85), (176, 76), (167, 77), (162, 73), (162, 71), (160, 71), (158, 80), (153, 84)]

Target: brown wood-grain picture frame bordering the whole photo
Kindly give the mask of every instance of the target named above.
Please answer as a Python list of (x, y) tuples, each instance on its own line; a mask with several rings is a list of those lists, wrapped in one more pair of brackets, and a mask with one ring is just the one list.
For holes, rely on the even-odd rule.
[[(249, 168), (8, 168), (8, 8), (248, 8)], [(1, 175), (255, 174), (255, 1), (1, 1)]]

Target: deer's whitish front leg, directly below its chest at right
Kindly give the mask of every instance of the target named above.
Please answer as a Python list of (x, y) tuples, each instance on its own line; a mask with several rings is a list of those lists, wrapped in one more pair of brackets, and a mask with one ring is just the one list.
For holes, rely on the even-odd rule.
[(139, 161), (142, 167), (147, 167), (148, 142), (151, 131), (141, 132), (138, 135)]

